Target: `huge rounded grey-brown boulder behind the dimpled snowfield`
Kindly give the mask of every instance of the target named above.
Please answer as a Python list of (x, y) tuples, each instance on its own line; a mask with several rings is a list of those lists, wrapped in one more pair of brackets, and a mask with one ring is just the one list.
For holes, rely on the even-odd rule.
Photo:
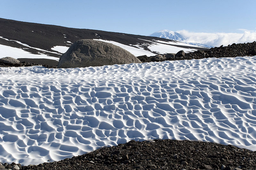
[(61, 55), (58, 68), (141, 63), (125, 49), (97, 40), (78, 40)]

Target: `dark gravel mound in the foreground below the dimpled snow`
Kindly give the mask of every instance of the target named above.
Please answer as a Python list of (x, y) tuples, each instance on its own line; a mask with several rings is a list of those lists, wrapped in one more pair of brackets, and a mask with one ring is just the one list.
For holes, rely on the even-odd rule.
[[(15, 164), (5, 163), (3, 166), (8, 169)], [(256, 152), (199, 141), (132, 140), (58, 162), (22, 166), (21, 169), (256, 169)]]

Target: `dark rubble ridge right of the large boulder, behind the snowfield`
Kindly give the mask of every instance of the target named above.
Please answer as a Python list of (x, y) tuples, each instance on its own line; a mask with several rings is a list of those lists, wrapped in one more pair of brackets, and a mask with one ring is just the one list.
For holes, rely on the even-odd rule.
[(202, 58), (221, 58), (221, 57), (236, 57), (236, 56), (254, 56), (256, 55), (256, 41), (251, 43), (243, 44), (232, 44), (226, 47), (214, 47), (207, 50), (198, 50), (195, 52), (184, 53), (184, 51), (179, 51), (177, 54), (165, 54), (162, 58), (159, 56), (146, 55), (138, 56), (138, 59), (142, 62), (161, 62), (166, 60), (191, 60), (191, 59), (202, 59)]

